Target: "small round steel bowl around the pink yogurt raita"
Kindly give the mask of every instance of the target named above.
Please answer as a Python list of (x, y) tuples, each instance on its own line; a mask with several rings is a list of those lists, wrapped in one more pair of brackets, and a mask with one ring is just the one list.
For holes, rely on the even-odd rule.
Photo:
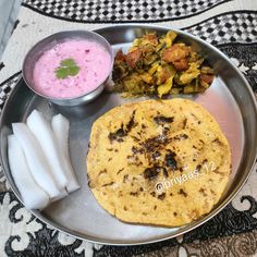
[[(41, 57), (41, 54), (53, 48), (56, 45), (63, 42), (65, 40), (70, 39), (86, 39), (90, 41), (96, 41), (100, 46), (102, 46), (107, 52), (109, 52), (111, 57), (111, 65), (109, 68), (109, 73), (105, 79), (102, 79), (99, 85), (91, 91), (81, 95), (78, 97), (72, 97), (72, 98), (51, 98), (49, 96), (42, 95), (41, 93), (37, 91), (34, 85), (34, 79), (33, 79), (33, 71), (35, 63), (37, 60)], [(100, 95), (100, 93), (103, 90), (105, 83), (108, 79), (109, 75), (111, 74), (112, 71), (112, 65), (113, 65), (113, 51), (110, 46), (110, 44), (107, 41), (106, 38), (100, 36), (97, 33), (89, 32), (89, 30), (65, 30), (65, 32), (60, 32), (57, 34), (52, 34), (39, 42), (37, 42), (26, 54), (24, 62), (23, 62), (23, 68), (22, 68), (22, 74), (23, 78), (26, 83), (26, 85), (38, 96), (44, 97), (48, 99), (49, 101), (58, 105), (58, 106), (78, 106), (78, 105), (84, 105), (93, 101), (97, 96)]]

